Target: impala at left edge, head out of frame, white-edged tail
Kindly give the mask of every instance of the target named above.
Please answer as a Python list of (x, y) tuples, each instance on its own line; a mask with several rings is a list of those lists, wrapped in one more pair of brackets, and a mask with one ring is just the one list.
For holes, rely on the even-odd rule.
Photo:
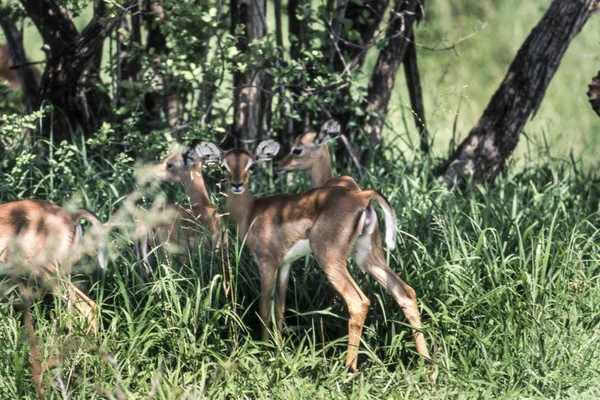
[[(93, 226), (92, 235), (83, 236), (79, 221), (85, 218)], [(74, 263), (87, 250), (82, 238), (95, 240), (100, 266), (105, 266), (105, 242), (98, 240), (102, 223), (88, 210), (68, 212), (41, 200), (20, 200), (0, 205), (0, 272), (13, 276), (30, 272), (50, 284), (53, 292), (67, 305), (73, 305), (96, 330), (96, 304), (75, 285), (68, 282), (63, 291), (52, 279), (68, 276)], [(25, 295), (25, 287), (20, 287)]]

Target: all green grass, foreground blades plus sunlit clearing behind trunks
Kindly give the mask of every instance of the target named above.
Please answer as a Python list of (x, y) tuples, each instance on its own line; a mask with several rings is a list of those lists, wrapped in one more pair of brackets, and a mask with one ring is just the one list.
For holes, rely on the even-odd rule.
[[(458, 54), (419, 51), (434, 155), (447, 151), (459, 100), (457, 140), (468, 133), (548, 3), (428, 2), (417, 32), (425, 45), (440, 37), (449, 45), (479, 29), (478, 21), (488, 23)], [(402, 77), (397, 81), (387, 128), (394, 162), (369, 166), (360, 185), (381, 190), (398, 213), (401, 234), (389, 262), (417, 291), (439, 398), (600, 397), (600, 181), (593, 168), (600, 120), (585, 96), (598, 69), (594, 23), (565, 55), (509, 174), (464, 196), (435, 185), (430, 161), (412, 150), (408, 96)], [(41, 47), (27, 32), (27, 49)], [(374, 61), (371, 54), (368, 65)], [(144, 140), (138, 151), (157, 159), (165, 138), (152, 133)], [(143, 189), (134, 183), (129, 156), (102, 146), (40, 146), (2, 154), (0, 203), (73, 201), (106, 221)], [(204, 172), (222, 209), (220, 173)], [(261, 170), (253, 192), (307, 187), (306, 177), (287, 182)], [(170, 199), (186, 201), (181, 188), (163, 188)], [(143, 191), (149, 207), (156, 192)], [(119, 397), (118, 390), (123, 398), (143, 398), (153, 389), (165, 399), (435, 397), (401, 310), (352, 263), (372, 304), (358, 373), (343, 367), (346, 309), (311, 257), (292, 269), (283, 335), (260, 342), (257, 267), (233, 233), (232, 242), (224, 275), (214, 272), (222, 270), (220, 260), (196, 251), (203, 254), (181, 274), (164, 264), (144, 284), (128, 232), (114, 232), (108, 268), (90, 272), (90, 258), (77, 274), (98, 302), (99, 334), (85, 334), (82, 321), (51, 296), (34, 306), (48, 397), (61, 398), (61, 386), (72, 399)], [(231, 288), (226, 293), (224, 283)], [(16, 296), (5, 300), (0, 398), (33, 398), (25, 329), (11, 304)]]

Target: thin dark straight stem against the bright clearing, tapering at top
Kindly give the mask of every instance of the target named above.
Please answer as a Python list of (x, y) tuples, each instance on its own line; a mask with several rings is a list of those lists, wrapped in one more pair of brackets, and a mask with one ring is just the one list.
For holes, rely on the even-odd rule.
[(429, 133), (427, 132), (427, 124), (425, 123), (423, 90), (421, 89), (421, 78), (419, 76), (419, 66), (417, 64), (417, 49), (415, 46), (414, 32), (410, 36), (410, 43), (408, 43), (408, 47), (406, 48), (402, 64), (404, 65), (404, 75), (406, 75), (406, 86), (408, 86), (412, 114), (415, 125), (417, 126), (417, 129), (419, 129), (421, 151), (427, 154), (429, 153)]

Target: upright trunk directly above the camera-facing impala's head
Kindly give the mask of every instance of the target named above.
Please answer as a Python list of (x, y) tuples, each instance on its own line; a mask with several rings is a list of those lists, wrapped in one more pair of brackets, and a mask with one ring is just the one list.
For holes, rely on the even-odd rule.
[[(231, 0), (231, 31), (244, 26), (244, 34), (237, 36), (237, 48), (249, 52), (249, 44), (265, 35), (265, 0)], [(260, 64), (260, 59), (253, 60)], [(233, 138), (244, 146), (253, 147), (261, 136), (261, 89), (264, 85), (261, 66), (235, 71), (233, 74)], [(231, 145), (228, 141), (224, 146)]]

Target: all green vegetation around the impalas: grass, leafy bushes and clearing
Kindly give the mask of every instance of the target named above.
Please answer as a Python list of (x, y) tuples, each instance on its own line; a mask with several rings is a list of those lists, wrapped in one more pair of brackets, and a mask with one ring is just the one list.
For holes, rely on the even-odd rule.
[[(60, 3), (74, 12), (80, 30), (91, 18), (86, 2)], [(141, 80), (119, 80), (120, 60), (116, 46), (110, 47), (116, 43), (113, 33), (100, 76), (93, 80), (110, 95), (115, 117), (102, 121), (87, 140), (76, 130), (70, 132), (76, 138), (70, 142), (28, 136), (42, 115), (58, 111), (48, 107), (22, 115), (20, 94), (0, 88), (6, 94), (0, 95), (0, 203), (21, 198), (75, 202), (109, 221), (126, 208), (132, 193), (141, 193), (138, 207), (150, 209), (163, 193), (136, 182), (136, 163), (159, 160), (175, 139), (222, 139), (232, 120), (231, 73), (252, 66), (259, 56), (273, 82), (270, 134), (285, 129), (289, 119), (302, 121), (303, 113), (311, 126), (322, 122), (324, 110), (362, 116), (360, 100), (376, 49), (368, 53), (362, 70), (332, 72), (323, 62), (329, 56), (325, 43), (331, 17), (324, 2), (313, 2), (314, 9), (300, 13), (311, 29), (297, 58), (287, 53), (287, 32), (284, 49), (269, 31), (249, 53), (239, 53), (227, 2), (200, 3), (162, 2), (166, 18), (158, 27), (166, 38), (165, 51), (149, 50), (145, 41), (131, 44), (131, 26), (122, 21), (117, 31), (140, 64)], [(456, 52), (419, 48), (437, 146), (434, 157), (446, 150), (450, 137), (456, 142), (472, 126), (495, 89), (490, 82), (502, 79), (511, 52), (544, 10), (537, 3), (521, 3), (427, 3), (417, 30), (417, 41), (426, 46), (451, 45), (479, 29), (478, 20), (490, 23)], [(119, 2), (107, 5), (119, 9)], [(515, 11), (517, 5), (521, 12)], [(41, 60), (42, 45), (34, 31), (26, 21), (25, 47), (31, 60)], [(344, 24), (342, 32), (356, 37), (352, 24)], [(388, 114), (386, 157), (364, 166), (361, 187), (382, 191), (398, 213), (399, 246), (389, 262), (417, 291), (433, 346), (439, 397), (600, 397), (600, 182), (588, 172), (590, 154), (597, 153), (592, 133), (598, 121), (588, 119), (581, 110), (590, 111), (589, 106), (580, 106), (573, 94), (575, 86), (583, 87), (574, 80), (585, 83), (589, 78), (580, 68), (593, 64), (597, 71), (593, 54), (589, 60), (573, 57), (591, 51), (583, 49), (597, 39), (588, 32), (575, 42), (540, 113), (528, 125), (519, 150), (525, 155), (514, 160), (510, 174), (494, 187), (473, 187), (461, 196), (431, 181), (432, 160), (414, 150), (417, 135), (407, 122), (411, 111), (402, 88), (395, 91)], [(179, 99), (173, 125), (164, 107), (156, 118), (148, 112), (148, 97), (162, 96), (167, 87)], [(572, 123), (573, 115), (579, 125)], [(358, 124), (351, 120), (349, 126)], [(555, 146), (551, 154), (547, 141), (560, 145), (565, 140), (569, 146)], [(575, 152), (588, 152), (588, 161), (553, 157), (571, 145)], [(211, 200), (222, 210), (220, 173), (203, 173)], [(344, 166), (337, 173), (356, 176)], [(164, 186), (166, 197), (188, 202), (181, 188)], [(302, 177), (276, 179), (266, 168), (252, 190), (267, 195), (307, 187)], [(196, 251), (181, 273), (172, 268), (175, 260), (164, 261), (151, 283), (143, 283), (135, 272), (130, 237), (127, 229), (114, 229), (108, 268), (76, 275), (98, 303), (103, 325), (98, 335), (84, 333), (83, 321), (63, 303), (51, 297), (36, 303), (33, 318), (49, 398), (63, 393), (68, 398), (141, 398), (153, 392), (158, 398), (435, 397), (402, 311), (354, 265), (351, 273), (372, 306), (360, 370), (350, 375), (343, 367), (347, 312), (311, 257), (292, 269), (284, 334), (262, 343), (257, 268), (232, 230), (228, 257)], [(88, 271), (91, 262), (83, 260), (79, 271)], [(0, 302), (0, 341), (5, 343), (0, 349), (0, 398), (34, 393), (24, 328), (12, 307), (16, 300), (11, 293)]]

